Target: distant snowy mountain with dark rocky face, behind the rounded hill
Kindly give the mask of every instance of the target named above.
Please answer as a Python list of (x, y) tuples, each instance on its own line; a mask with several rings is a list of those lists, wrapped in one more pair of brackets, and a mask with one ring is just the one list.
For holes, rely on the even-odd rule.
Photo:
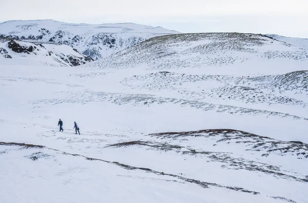
[(14, 20), (0, 24), (0, 36), (66, 44), (93, 59), (107, 57), (145, 39), (178, 32), (138, 24), (69, 24), (54, 20)]

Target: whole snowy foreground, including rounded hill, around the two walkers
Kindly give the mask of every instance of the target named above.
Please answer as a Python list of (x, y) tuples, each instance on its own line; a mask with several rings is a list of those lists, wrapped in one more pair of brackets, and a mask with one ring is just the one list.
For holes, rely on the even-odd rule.
[(1, 202), (307, 203), (307, 59), (200, 33), (76, 67), (0, 65)]

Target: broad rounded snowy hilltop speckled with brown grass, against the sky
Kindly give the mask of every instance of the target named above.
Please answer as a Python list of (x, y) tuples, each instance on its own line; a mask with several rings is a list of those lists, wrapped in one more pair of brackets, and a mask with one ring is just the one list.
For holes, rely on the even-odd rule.
[(148, 39), (91, 66), (123, 69), (146, 64), (151, 70), (209, 69), (210, 66), (240, 66), (247, 62), (268, 65), (273, 59), (286, 59), (292, 63), (308, 60), (308, 50), (289, 45), (260, 34), (167, 35)]

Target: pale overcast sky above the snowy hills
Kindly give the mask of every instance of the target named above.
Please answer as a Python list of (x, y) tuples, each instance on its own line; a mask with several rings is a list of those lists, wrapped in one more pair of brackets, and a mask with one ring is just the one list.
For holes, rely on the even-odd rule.
[(308, 0), (0, 0), (0, 21), (135, 22), (180, 32), (308, 38)]

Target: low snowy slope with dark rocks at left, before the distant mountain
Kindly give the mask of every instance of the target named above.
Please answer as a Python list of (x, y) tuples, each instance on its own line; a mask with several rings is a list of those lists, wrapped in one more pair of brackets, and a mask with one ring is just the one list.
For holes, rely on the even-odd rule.
[(42, 44), (0, 39), (1, 65), (77, 66), (91, 61), (93, 59), (80, 54), (65, 44)]

